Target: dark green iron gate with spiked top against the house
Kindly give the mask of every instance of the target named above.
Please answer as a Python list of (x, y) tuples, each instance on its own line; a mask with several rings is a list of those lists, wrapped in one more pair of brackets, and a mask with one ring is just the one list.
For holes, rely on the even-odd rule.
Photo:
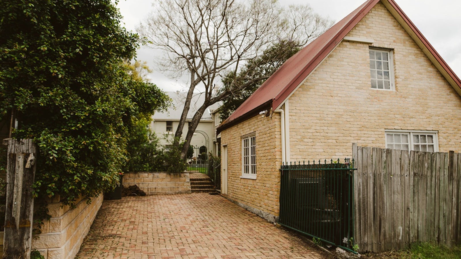
[(282, 165), (278, 223), (354, 252), (354, 161)]

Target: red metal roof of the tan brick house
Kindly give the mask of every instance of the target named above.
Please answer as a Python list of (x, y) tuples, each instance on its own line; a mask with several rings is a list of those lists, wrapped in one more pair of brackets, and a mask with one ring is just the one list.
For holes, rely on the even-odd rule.
[[(256, 108), (261, 109), (263, 105), (268, 102), (271, 103), (272, 110), (275, 110), (283, 104), (286, 98), (296, 90), (301, 82), (328, 56), (328, 54), (343, 40), (344, 36), (346, 36), (379, 1), (380, 0), (367, 0), (348, 16), (333, 25), (330, 29), (325, 31), (325, 33), (288, 59), (219, 126), (218, 131), (225, 130), (245, 120), (248, 113), (260, 112), (254, 110)], [(390, 4), (390, 6), (395, 9), (396, 13), (401, 16), (406, 24), (408, 24), (409, 28), (413, 30), (414, 34), (432, 53), (443, 70), (448, 73), (449, 77), (454, 80), (454, 83), (457, 84), (461, 90), (460, 79), (449, 68), (420, 31), (416, 29), (416, 26), (414, 26), (402, 9), (397, 6), (395, 1), (382, 1), (385, 2), (385, 4)], [(461, 93), (461, 91), (457, 92)]]

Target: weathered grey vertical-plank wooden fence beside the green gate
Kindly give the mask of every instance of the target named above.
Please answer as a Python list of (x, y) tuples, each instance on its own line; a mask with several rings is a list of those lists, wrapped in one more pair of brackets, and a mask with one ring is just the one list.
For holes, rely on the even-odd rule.
[(352, 145), (355, 242), (382, 252), (461, 243), (461, 154)]

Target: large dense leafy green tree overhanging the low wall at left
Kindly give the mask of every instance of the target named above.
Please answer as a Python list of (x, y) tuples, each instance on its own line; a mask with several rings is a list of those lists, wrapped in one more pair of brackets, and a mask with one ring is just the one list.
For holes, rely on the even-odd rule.
[(0, 118), (14, 112), (14, 137), (39, 147), (35, 196), (72, 204), (115, 187), (136, 119), (167, 107), (126, 73), (138, 37), (120, 18), (112, 0), (2, 1)]

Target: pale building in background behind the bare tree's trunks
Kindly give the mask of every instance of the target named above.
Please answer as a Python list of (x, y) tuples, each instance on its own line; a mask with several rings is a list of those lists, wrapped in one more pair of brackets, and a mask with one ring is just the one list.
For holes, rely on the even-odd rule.
[[(173, 141), (174, 134), (176, 132), (179, 118), (184, 108), (184, 101), (186, 100), (186, 92), (166, 92), (172, 100), (170, 108), (166, 112), (156, 112), (152, 116), (152, 122), (150, 124), (151, 130), (160, 139), (161, 145), (170, 145)], [(186, 117), (186, 123), (183, 127), (184, 139), (189, 128), (189, 122), (197, 112), (198, 108), (203, 104), (205, 99), (204, 94), (194, 94), (190, 104), (190, 109)], [(207, 147), (207, 153), (212, 152), (216, 154), (216, 129), (215, 123), (212, 117), (212, 112), (220, 106), (220, 103), (213, 104), (208, 107), (203, 116), (200, 119), (200, 123), (195, 129), (194, 135), (190, 144), (194, 147)]]

